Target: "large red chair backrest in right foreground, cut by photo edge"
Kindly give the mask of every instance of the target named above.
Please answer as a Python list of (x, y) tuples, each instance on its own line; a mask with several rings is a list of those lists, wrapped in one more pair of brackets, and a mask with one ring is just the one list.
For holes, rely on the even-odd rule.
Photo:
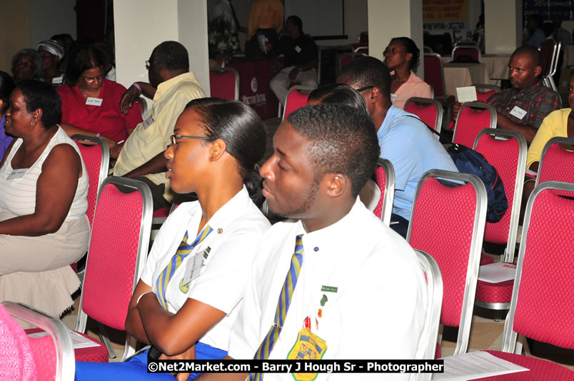
[(545, 181), (528, 198), (503, 351), (517, 334), (574, 349), (574, 184)]

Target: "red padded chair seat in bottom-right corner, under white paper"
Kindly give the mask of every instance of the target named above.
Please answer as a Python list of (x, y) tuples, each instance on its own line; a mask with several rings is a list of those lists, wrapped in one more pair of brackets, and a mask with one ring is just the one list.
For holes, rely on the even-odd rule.
[(499, 357), (503, 360), (513, 362), (521, 367), (528, 368), (525, 372), (510, 373), (509, 375), (499, 375), (493, 377), (477, 378), (482, 381), (538, 381), (553, 380), (565, 381), (574, 380), (574, 372), (566, 367), (555, 364), (554, 362), (540, 360), (530, 356), (520, 356), (514, 353), (500, 352), (498, 350), (486, 350), (490, 355)]

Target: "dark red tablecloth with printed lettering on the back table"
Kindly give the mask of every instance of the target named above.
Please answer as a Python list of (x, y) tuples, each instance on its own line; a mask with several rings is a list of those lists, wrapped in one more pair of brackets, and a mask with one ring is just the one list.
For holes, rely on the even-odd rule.
[(269, 59), (234, 58), (226, 66), (239, 73), (239, 100), (253, 107), (263, 120), (276, 117), (279, 101), (269, 87), (276, 71)]

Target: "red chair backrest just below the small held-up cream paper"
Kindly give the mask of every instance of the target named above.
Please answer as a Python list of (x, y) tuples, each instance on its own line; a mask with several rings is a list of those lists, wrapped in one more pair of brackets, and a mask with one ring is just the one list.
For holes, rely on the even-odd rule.
[(465, 102), (458, 110), (453, 143), (472, 147), (478, 133), (485, 128), (496, 128), (496, 110), (486, 103)]

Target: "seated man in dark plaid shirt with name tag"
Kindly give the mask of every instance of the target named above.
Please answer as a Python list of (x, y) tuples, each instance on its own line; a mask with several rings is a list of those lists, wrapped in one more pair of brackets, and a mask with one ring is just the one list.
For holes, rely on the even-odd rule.
[[(518, 131), (530, 144), (543, 119), (560, 108), (560, 96), (540, 82), (540, 51), (532, 46), (516, 49), (508, 63), (510, 85), (488, 98), (487, 103), (497, 112), (496, 125), (505, 130)], [(456, 121), (461, 103), (453, 106), (452, 118)]]

